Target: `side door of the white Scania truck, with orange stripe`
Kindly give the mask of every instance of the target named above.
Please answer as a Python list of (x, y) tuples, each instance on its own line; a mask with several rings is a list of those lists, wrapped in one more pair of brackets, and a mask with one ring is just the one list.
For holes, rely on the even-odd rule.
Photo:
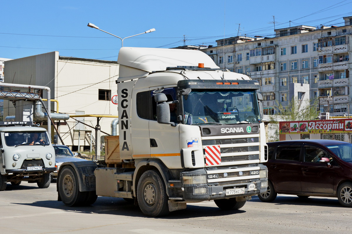
[[(149, 137), (151, 141), (151, 156), (152, 158), (161, 159), (165, 165), (172, 168), (180, 168), (180, 133), (179, 126), (177, 123), (176, 127), (169, 124), (161, 124), (156, 120), (156, 102), (154, 101), (153, 93), (158, 87), (150, 88), (151, 92), (151, 104), (152, 104), (152, 115), (153, 120), (149, 121)], [(177, 100), (177, 90), (176, 87), (164, 86), (163, 93), (168, 97), (168, 101)], [(177, 109), (180, 109), (180, 103), (176, 104), (176, 110), (172, 107), (172, 111), (175, 115), (178, 115)], [(171, 109), (171, 108), (170, 108)], [(176, 114), (177, 113), (177, 114)], [(172, 118), (172, 115), (171, 115)]]

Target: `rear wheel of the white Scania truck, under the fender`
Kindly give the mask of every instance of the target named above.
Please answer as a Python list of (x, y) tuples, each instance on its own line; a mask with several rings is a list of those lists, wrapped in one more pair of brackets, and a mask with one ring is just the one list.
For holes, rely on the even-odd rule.
[(78, 177), (72, 167), (66, 166), (62, 169), (58, 175), (57, 183), (60, 198), (66, 206), (80, 206), (87, 202), (88, 194), (87, 192), (80, 192)]

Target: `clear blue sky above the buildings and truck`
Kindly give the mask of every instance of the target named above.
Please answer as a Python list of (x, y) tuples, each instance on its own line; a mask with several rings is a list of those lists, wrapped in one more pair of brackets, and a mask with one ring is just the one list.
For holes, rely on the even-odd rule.
[[(171, 48), (215, 45), (237, 36), (274, 36), (275, 27), (342, 26), (352, 16), (352, 1), (2, 1), (0, 58), (59, 51), (62, 56), (117, 60), (121, 40), (150, 28), (155, 32), (124, 40), (124, 46)], [(238, 27), (240, 24), (240, 31)]]

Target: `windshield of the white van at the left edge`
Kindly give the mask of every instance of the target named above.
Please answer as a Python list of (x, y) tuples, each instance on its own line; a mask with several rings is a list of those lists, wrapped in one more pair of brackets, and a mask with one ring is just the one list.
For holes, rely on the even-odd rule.
[(49, 145), (50, 141), (45, 132), (5, 132), (7, 146), (21, 145)]

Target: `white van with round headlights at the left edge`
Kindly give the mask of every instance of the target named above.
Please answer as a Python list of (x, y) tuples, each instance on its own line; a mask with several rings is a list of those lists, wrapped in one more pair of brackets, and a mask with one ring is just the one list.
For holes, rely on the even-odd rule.
[(55, 151), (46, 129), (32, 122), (0, 122), (0, 191), (22, 181), (48, 188)]

